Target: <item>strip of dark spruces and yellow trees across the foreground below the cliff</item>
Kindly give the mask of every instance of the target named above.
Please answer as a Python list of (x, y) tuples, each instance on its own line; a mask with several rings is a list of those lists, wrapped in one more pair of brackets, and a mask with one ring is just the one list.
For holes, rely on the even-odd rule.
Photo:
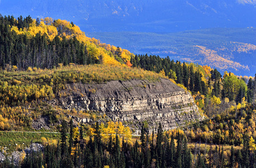
[[(72, 120), (62, 121), (60, 142), (44, 141), (45, 150), (24, 155), (18, 163), (20, 167), (250, 167), (255, 164), (255, 143), (253, 137), (243, 136), (241, 146), (218, 146), (210, 140), (210, 145), (188, 143), (190, 140), (183, 130), (164, 132), (161, 124), (157, 132), (146, 133), (142, 125), (141, 136), (133, 138), (129, 129), (122, 124), (96, 123), (89, 141), (85, 141), (84, 126), (73, 125)], [(118, 127), (118, 129), (117, 129)], [(105, 136), (104, 130), (117, 129), (115, 136)], [(118, 134), (124, 128), (127, 134)], [(67, 134), (69, 132), (69, 134)], [(109, 131), (108, 131), (109, 133)], [(120, 137), (119, 137), (120, 136)], [(121, 137), (122, 136), (122, 137)], [(218, 136), (218, 134), (217, 134)], [(68, 141), (68, 142), (67, 142)], [(208, 141), (207, 141), (208, 142)], [(4, 160), (0, 166), (13, 167)]]

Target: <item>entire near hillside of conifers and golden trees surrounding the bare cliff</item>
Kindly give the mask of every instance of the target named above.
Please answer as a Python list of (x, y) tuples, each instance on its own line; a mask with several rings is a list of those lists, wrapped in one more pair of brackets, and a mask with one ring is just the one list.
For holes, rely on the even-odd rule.
[[(23, 151), (28, 144), (27, 133), (18, 134), (24, 137), (25, 144), (25, 140), (14, 140), (18, 139), (13, 135), (16, 132), (1, 132), (1, 167), (255, 165), (256, 76), (221, 74), (210, 66), (181, 63), (170, 57), (134, 55), (87, 38), (72, 22), (49, 17), (40, 21), (29, 16), (1, 16), (0, 49), (0, 130), (60, 132), (47, 138), (36, 134), (34, 140), (42, 143), (44, 150), (27, 153)], [(187, 122), (184, 127), (178, 125), (174, 130), (163, 130), (159, 124), (157, 133), (152, 134), (148, 133), (148, 121), (143, 120), (134, 123), (141, 128), (141, 135), (136, 138), (126, 127), (128, 123), (114, 123), (102, 111), (65, 109), (50, 102), (55, 97), (71, 97), (65, 90), (68, 84), (160, 78), (184, 88), (182, 91), (194, 99), (203, 120)], [(125, 91), (129, 90), (132, 88)], [(91, 87), (88, 94), (95, 92)], [(160, 104), (159, 99), (155, 102)], [(183, 104), (173, 107), (182, 109)], [(188, 106), (192, 105), (188, 102)], [(185, 111), (178, 114), (177, 120), (187, 115)], [(78, 119), (86, 119), (87, 124)], [(21, 152), (18, 162), (7, 159), (13, 150)]]

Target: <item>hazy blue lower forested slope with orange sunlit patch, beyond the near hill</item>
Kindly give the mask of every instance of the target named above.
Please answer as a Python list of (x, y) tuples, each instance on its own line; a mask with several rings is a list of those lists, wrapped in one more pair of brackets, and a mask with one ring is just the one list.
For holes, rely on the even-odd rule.
[(127, 48), (135, 54), (152, 54), (194, 62), (254, 76), (256, 72), (256, 29), (215, 28), (157, 34), (150, 32), (95, 32), (87, 36)]

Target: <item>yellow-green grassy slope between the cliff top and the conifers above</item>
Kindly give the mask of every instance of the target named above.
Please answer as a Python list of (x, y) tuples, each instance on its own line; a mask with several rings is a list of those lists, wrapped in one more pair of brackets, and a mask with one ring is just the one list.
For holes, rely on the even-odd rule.
[(61, 78), (59, 80), (62, 80), (63, 83), (102, 83), (106, 81), (132, 79), (154, 81), (166, 77), (162, 74), (145, 71), (141, 68), (129, 68), (127, 66), (106, 66), (102, 64), (76, 66), (70, 64), (69, 66), (56, 69), (35, 69), (34, 71), (15, 72), (2, 71), (0, 78), (1, 81), (8, 83), (14, 82), (14, 85), (15, 80), (20, 81), (20, 85), (41, 85), (43, 83), (50, 85), (50, 82), (54, 82), (57, 78)]

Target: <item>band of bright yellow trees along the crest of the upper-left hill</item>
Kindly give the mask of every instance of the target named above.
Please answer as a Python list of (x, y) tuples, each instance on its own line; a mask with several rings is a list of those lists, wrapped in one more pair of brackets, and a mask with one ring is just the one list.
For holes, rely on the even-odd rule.
[[(134, 54), (126, 49), (117, 48), (105, 43), (102, 44), (95, 38), (87, 37), (85, 32), (80, 30), (80, 27), (66, 20), (53, 20), (53, 18), (46, 17), (41, 19), (39, 25), (36, 25), (36, 20), (34, 19), (32, 24), (29, 25), (29, 28), (18, 30), (17, 26), (12, 26), (11, 30), (15, 31), (18, 35), (25, 34), (29, 38), (36, 36), (36, 34), (46, 35), (51, 41), (56, 36), (60, 40), (63, 38), (76, 38), (80, 43), (87, 46), (88, 52), (92, 57), (100, 60), (102, 64), (110, 66), (129, 63), (128, 61), (131, 60), (131, 57), (134, 57)], [(127, 66), (131, 67), (131, 63), (127, 64)]]

